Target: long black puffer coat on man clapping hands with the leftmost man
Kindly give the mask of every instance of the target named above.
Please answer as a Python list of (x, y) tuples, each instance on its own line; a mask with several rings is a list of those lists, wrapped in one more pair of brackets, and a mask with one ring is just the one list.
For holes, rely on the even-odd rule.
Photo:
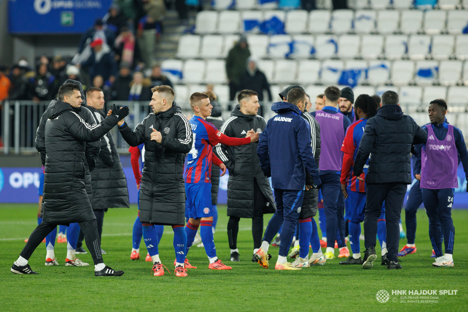
[[(162, 141), (151, 141), (153, 129)], [(167, 111), (149, 114), (135, 127), (119, 127), (130, 146), (145, 143), (145, 163), (140, 184), (140, 221), (163, 225), (185, 224), (185, 154), (192, 148), (190, 123), (173, 102)]]

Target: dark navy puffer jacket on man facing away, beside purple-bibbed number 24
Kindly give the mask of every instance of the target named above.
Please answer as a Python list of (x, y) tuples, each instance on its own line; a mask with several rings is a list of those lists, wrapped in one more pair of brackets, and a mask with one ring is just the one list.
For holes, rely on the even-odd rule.
[(411, 184), (411, 146), (426, 141), (427, 133), (399, 105), (384, 105), (367, 120), (353, 174), (361, 174), (372, 153), (366, 183)]

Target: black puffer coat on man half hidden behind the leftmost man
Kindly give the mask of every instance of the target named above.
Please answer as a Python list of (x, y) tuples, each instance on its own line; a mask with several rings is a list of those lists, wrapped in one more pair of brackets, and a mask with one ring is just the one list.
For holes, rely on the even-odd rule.
[[(92, 112), (96, 123), (101, 122), (106, 116), (103, 111), (94, 107), (88, 106), (88, 109)], [(101, 139), (101, 152), (96, 158), (96, 168), (91, 172), (91, 185), (93, 186), (93, 210), (130, 207), (127, 179), (110, 133)]]

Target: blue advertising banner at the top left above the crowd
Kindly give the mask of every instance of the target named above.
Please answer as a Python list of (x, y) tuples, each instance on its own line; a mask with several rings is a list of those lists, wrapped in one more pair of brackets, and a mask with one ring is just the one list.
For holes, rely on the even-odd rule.
[(14, 34), (82, 33), (104, 17), (112, 0), (9, 0), (8, 30)]

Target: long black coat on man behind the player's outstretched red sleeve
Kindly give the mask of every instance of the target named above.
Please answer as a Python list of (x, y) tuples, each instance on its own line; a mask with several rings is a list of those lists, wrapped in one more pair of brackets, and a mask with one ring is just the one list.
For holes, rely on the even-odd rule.
[[(236, 105), (231, 117), (221, 127), (221, 132), (234, 138), (245, 138), (247, 131), (262, 132), (266, 122), (258, 115), (245, 115)], [(275, 199), (268, 178), (260, 168), (257, 156), (258, 143), (241, 146), (216, 145), (215, 154), (229, 169), (227, 181), (227, 215), (238, 218), (254, 217), (254, 178), (267, 199), (264, 214), (274, 213)]]

